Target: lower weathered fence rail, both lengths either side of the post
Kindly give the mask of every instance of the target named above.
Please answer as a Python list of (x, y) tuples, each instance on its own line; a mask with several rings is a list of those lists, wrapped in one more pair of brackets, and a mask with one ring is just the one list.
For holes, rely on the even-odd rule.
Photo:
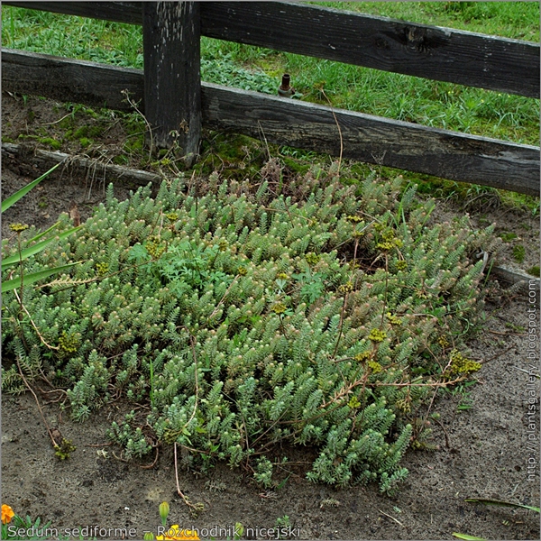
[[(142, 96), (139, 70), (9, 50), (2, 52), (2, 60), (5, 90), (62, 99), (59, 91), (67, 88), (65, 100), (88, 105), (113, 101), (112, 84), (127, 88), (133, 96)], [(58, 75), (50, 77), (47, 72)], [(49, 84), (43, 83), (46, 77)], [(92, 84), (71, 85), (65, 77), (75, 81), (89, 78)], [(335, 156), (340, 152), (330, 107), (206, 83), (201, 88), (201, 102), (207, 128), (257, 138), (264, 134), (270, 142)], [(129, 109), (122, 99), (116, 98), (116, 103), (120, 109)], [(344, 138), (344, 158), (539, 196), (537, 147), (344, 110), (334, 113)]]

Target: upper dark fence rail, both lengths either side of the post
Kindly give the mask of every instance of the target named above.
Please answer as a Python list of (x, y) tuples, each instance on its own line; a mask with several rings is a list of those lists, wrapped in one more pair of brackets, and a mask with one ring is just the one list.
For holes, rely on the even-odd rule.
[[(142, 24), (130, 2), (4, 2)], [(201, 34), (373, 69), (539, 97), (539, 44), (286, 2), (201, 2)]]

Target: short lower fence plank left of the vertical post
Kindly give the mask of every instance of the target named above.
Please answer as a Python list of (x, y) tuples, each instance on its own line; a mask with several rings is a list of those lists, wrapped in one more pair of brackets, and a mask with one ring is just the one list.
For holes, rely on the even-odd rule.
[(130, 98), (143, 98), (142, 71), (68, 60), (23, 50), (2, 51), (2, 86), (5, 90), (45, 96), (59, 101), (73, 101), (93, 107), (131, 110)]

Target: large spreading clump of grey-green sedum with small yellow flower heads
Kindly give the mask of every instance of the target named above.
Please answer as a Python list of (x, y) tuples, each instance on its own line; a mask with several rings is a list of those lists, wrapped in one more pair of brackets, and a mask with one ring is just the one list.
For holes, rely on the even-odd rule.
[(433, 204), (400, 196), (400, 179), (344, 187), (332, 166), (276, 185), (214, 173), (123, 202), (109, 187), (77, 239), (26, 261), (83, 261), (25, 292), (35, 327), (5, 295), (4, 389), (20, 389), (18, 363), (68, 388), (78, 420), (113, 396), (151, 403), (110, 431), (130, 456), (176, 443), (270, 486), (273, 446), (310, 445), (311, 481), (393, 491), (423, 400), (475, 369), (449, 370), (450, 355), (491, 229), (427, 225)]

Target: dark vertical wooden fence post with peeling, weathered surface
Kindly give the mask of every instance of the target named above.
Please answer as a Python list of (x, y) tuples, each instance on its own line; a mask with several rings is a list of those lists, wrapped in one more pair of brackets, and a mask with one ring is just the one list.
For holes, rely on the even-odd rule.
[(153, 149), (179, 146), (188, 167), (201, 137), (198, 2), (143, 2), (144, 110)]

